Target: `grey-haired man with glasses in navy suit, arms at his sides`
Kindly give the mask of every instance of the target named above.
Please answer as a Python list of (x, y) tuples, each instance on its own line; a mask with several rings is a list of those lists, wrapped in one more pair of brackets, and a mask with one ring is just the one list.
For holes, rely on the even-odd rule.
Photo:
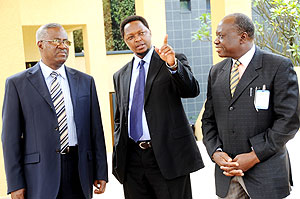
[(60, 24), (36, 32), (41, 60), (9, 77), (2, 145), (12, 199), (90, 199), (105, 191), (107, 160), (91, 76), (64, 65), (67, 33)]

